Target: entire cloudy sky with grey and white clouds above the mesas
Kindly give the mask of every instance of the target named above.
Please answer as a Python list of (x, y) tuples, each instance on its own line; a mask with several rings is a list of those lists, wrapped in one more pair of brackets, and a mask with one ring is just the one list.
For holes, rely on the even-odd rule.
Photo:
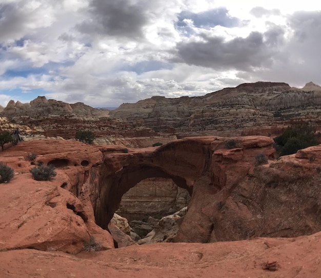
[(321, 85), (321, 1), (0, 0), (0, 105)]

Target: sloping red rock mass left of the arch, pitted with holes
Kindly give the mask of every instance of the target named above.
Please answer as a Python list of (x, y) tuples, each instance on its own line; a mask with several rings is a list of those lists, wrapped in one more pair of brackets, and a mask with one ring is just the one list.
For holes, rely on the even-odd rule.
[[(56, 166), (51, 182), (32, 179), (34, 161)], [(102, 153), (72, 141), (30, 141), (0, 153), (0, 161), (14, 169), (10, 183), (1, 184), (0, 249), (35, 248), (78, 253), (90, 235), (103, 249), (114, 248), (108, 231), (95, 224), (90, 196)], [(90, 192), (92, 189), (90, 189)]]

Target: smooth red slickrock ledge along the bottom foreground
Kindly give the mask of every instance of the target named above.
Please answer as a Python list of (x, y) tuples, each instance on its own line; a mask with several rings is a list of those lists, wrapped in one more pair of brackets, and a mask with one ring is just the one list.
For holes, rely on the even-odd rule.
[(162, 243), (80, 253), (0, 252), (0, 277), (321, 277), (321, 233), (296, 239)]

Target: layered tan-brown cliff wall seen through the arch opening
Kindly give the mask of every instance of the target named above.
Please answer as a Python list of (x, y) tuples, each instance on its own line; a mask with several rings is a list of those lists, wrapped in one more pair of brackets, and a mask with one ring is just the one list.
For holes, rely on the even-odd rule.
[(187, 207), (189, 201), (188, 191), (178, 187), (171, 178), (152, 177), (130, 188), (116, 213), (128, 220), (132, 240), (138, 241), (157, 227), (164, 216)]

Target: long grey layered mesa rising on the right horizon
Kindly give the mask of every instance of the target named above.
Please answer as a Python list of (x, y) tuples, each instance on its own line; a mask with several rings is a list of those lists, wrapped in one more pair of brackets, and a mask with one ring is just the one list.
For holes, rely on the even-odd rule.
[(153, 96), (122, 104), (111, 116), (144, 120), (156, 131), (180, 136), (190, 134), (256, 135), (277, 133), (275, 128), (294, 120), (321, 127), (321, 87), (308, 83), (303, 89), (286, 83), (245, 83), (198, 97)]

